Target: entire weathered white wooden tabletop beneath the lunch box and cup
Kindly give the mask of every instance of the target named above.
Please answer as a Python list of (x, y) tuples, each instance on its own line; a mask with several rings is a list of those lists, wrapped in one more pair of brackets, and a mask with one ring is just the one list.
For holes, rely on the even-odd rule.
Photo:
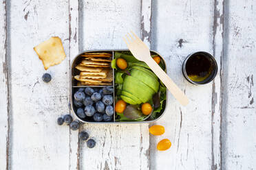
[[(253, 0), (2, 0), (0, 169), (256, 169), (255, 15)], [(156, 122), (162, 136), (149, 135), (151, 124), (84, 124), (97, 143), (88, 149), (78, 131), (56, 125), (70, 112), (70, 62), (79, 51), (126, 48), (129, 30), (164, 56), (190, 104), (169, 94)], [(45, 71), (33, 47), (50, 36), (62, 39), (67, 58)], [(217, 60), (210, 84), (182, 75), (194, 51)], [(156, 150), (162, 138), (171, 149)]]

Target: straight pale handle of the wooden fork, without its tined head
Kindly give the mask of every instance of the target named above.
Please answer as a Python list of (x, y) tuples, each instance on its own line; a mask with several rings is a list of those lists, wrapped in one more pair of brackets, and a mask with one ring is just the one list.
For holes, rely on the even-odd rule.
[(165, 73), (161, 67), (156, 63), (155, 60), (151, 57), (147, 57), (149, 60), (146, 60), (145, 62), (150, 67), (150, 69), (155, 73), (158, 78), (162, 81), (162, 83), (167, 86), (168, 90), (173, 94), (175, 99), (177, 99), (180, 104), (183, 106), (186, 106), (189, 104), (189, 99), (186, 97), (186, 95), (178, 88), (178, 86), (171, 80), (171, 78)]

